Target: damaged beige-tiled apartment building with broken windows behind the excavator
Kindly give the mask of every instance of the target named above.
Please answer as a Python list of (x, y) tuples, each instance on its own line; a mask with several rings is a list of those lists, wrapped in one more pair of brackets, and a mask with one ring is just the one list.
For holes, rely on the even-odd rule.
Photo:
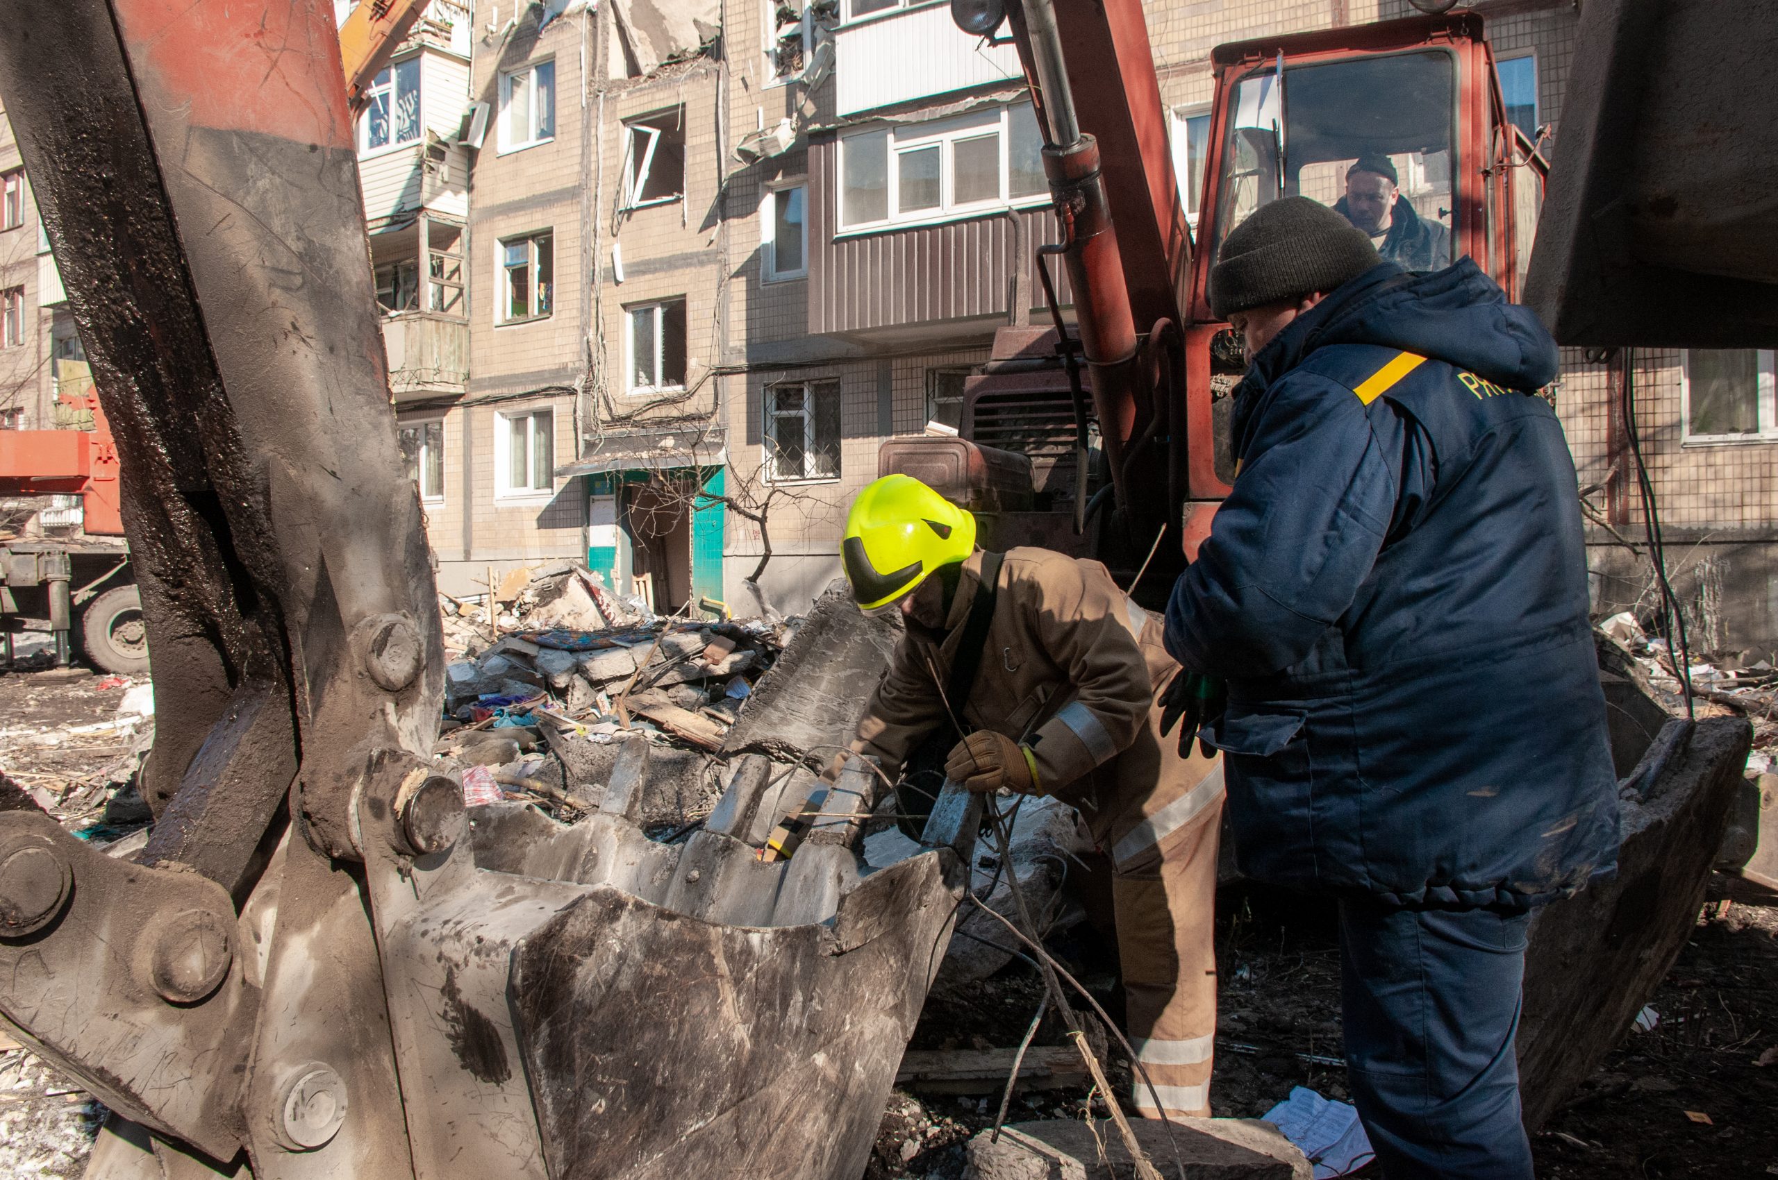
[[(1572, 5), (1470, 7), (1513, 123), (1561, 151)], [(1213, 46), (1417, 9), (1145, 14), (1195, 222)], [(955, 428), (996, 329), (1047, 325), (1033, 251), (1054, 217), (1019, 62), (942, 4), (436, 0), (386, 73), (388, 126), (373, 105), (361, 130), (372, 252), (450, 594), (576, 558), (661, 610), (800, 610), (839, 572), (884, 439)], [(1449, 217), (1462, 162), (1396, 163), (1403, 199)], [(1773, 645), (1773, 354), (1565, 354), (1602, 613), (1654, 586), (1625, 379), (1700, 647)], [(973, 411), (983, 442), (1069, 450), (1067, 407)]]

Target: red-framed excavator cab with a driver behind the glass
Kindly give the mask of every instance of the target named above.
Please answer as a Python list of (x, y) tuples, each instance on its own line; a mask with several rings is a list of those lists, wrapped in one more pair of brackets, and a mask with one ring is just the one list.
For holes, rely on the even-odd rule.
[(1474, 258), (1518, 299), (1543, 158), (1506, 117), (1476, 14), (1223, 44), (1211, 108), (1186, 327), (1188, 553), (1229, 492), (1239, 341), (1209, 306), (1221, 242), (1278, 197), (1321, 201), (1406, 270)]

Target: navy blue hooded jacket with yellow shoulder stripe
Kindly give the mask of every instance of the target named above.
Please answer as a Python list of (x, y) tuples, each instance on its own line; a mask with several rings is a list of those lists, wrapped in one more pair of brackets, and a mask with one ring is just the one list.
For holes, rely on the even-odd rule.
[(1618, 801), (1549, 332), (1470, 259), (1383, 263), (1234, 391), (1234, 490), (1166, 647), (1227, 679), (1237, 860), (1403, 906), (1614, 865)]

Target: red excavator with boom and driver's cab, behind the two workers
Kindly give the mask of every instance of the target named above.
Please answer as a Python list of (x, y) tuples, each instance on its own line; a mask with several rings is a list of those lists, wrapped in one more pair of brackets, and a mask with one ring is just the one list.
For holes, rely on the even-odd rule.
[[(1204, 185), (1193, 242), (1140, 5), (1021, 0), (1005, 20), (1044, 112), (1045, 155), (1085, 160), (1097, 146), (1101, 163), (1067, 176), (1090, 176), (1099, 195), (1053, 178), (1065, 240), (1045, 251), (1069, 267), (1074, 309), (1054, 309), (1051, 331), (1001, 329), (965, 384), (960, 437), (891, 439), (878, 471), (916, 474), (976, 510), (983, 544), (1097, 556), (1125, 576), (1149, 569), (1140, 597), (1157, 604), (1234, 480), (1229, 395), (1245, 364), (1207, 299), (1229, 231), (1305, 195), (1374, 231), (1408, 270), (1474, 258), (1517, 300), (1547, 167), (1508, 119), (1474, 12), (1223, 44), (1211, 55), (1204, 158), (1189, 167)], [(1118, 251), (1081, 213), (1095, 208), (1109, 211)]]

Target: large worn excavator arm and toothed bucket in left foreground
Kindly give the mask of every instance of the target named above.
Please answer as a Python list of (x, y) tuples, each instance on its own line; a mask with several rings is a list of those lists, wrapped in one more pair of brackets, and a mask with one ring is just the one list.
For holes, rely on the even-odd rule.
[(763, 864), (813, 782), (777, 727), (685, 844), (637, 825), (638, 739), (574, 826), (436, 773), (332, 9), (0, 0), (156, 700), (140, 853), (0, 814), (0, 1017), (110, 1107), (108, 1180), (857, 1175), (976, 819), (953, 794), (930, 851), (869, 871), (853, 761)]

